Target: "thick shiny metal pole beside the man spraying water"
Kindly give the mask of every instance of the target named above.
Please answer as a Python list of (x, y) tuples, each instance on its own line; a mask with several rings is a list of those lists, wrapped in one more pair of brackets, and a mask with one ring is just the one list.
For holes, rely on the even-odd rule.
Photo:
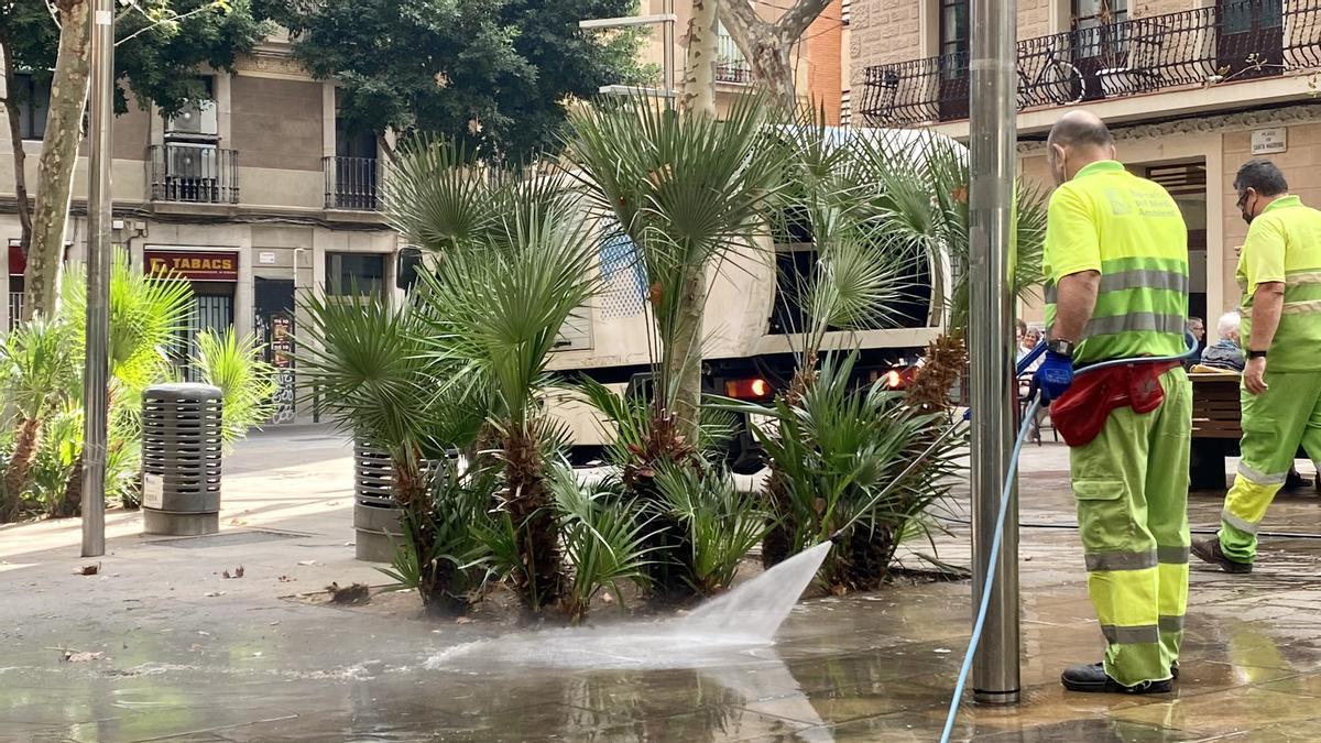
[[(970, 254), (972, 393), (972, 595), (993, 580), (972, 673), (978, 702), (1018, 702), (1018, 508), (1011, 490), (996, 565), (987, 565), (1015, 438), (1012, 212), (1015, 0), (972, 0)], [(976, 603), (976, 602), (974, 602)], [(974, 611), (976, 607), (974, 606)]]

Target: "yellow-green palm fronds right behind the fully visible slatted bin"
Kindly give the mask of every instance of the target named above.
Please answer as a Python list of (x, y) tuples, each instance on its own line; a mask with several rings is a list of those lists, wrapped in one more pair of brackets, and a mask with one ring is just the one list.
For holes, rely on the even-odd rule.
[(197, 336), (197, 357), (193, 366), (199, 381), (221, 390), (223, 402), (222, 431), (225, 446), (247, 436), (250, 428), (269, 420), (275, 412), (276, 370), (260, 360), (262, 346), (251, 333), (239, 338), (234, 328), (215, 336), (202, 332)]

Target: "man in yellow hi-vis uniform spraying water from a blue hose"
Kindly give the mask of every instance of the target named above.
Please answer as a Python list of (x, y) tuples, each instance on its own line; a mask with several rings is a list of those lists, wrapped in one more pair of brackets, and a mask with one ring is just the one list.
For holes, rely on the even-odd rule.
[[(1069, 668), (1073, 691), (1172, 689), (1188, 603), (1193, 394), (1178, 361), (1188, 325), (1188, 227), (1160, 185), (1115, 160), (1085, 111), (1050, 130), (1058, 188), (1046, 221), (1046, 360), (1037, 382), (1070, 446), (1087, 592), (1102, 662)], [(1078, 375), (1074, 368), (1132, 364)]]

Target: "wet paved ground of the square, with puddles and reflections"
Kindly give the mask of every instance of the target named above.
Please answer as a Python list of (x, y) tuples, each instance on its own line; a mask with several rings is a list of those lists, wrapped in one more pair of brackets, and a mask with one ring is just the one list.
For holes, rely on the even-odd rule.
[[(0, 740), (939, 738), (967, 583), (810, 600), (771, 648), (659, 670), (519, 668), (453, 653), (490, 633), (480, 623), (291, 600), (330, 580), (384, 583), (353, 561), (349, 456), (320, 430), (243, 444), (217, 537), (144, 539), (139, 516), (114, 514), (112, 554), (85, 561), (77, 524), (0, 530)], [(1247, 576), (1194, 566), (1173, 694), (1059, 687), (1063, 665), (1103, 648), (1065, 467), (1053, 446), (1022, 464), (1024, 703), (966, 705), (955, 739), (1321, 740), (1321, 539), (1267, 539)], [(1218, 512), (1218, 494), (1194, 496), (1194, 526)], [(1264, 528), (1321, 534), (1321, 498), (1283, 496)], [(967, 563), (966, 526), (938, 542), (941, 559)], [(74, 575), (89, 562), (99, 575)], [(239, 565), (243, 578), (221, 575)]]

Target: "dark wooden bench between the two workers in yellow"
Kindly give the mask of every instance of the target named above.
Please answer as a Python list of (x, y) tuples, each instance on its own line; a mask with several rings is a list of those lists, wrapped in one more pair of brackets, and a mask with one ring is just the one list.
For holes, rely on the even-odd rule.
[[(1193, 373), (1188, 377), (1193, 381), (1190, 487), (1194, 490), (1223, 490), (1225, 457), (1239, 456), (1239, 439), (1243, 438), (1242, 377), (1234, 373)], [(1297, 457), (1306, 456), (1300, 448)]]

